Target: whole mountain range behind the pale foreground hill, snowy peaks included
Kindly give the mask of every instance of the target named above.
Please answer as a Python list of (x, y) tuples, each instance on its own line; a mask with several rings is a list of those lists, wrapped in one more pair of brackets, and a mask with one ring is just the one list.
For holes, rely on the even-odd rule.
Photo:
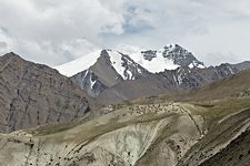
[(250, 69), (250, 62), (204, 66), (170, 44), (133, 54), (101, 50), (56, 69), (69, 77), (12, 52), (0, 56), (0, 132), (76, 121), (102, 105), (192, 90)]

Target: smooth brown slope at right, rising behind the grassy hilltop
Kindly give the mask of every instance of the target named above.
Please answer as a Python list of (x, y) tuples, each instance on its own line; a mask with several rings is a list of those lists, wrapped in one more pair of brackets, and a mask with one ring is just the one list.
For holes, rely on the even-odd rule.
[[(213, 100), (224, 100), (229, 97), (242, 97), (250, 95), (250, 70), (241, 71), (220, 81), (206, 84), (203, 86), (181, 91), (179, 93), (168, 93), (154, 96), (146, 96), (129, 103), (154, 103), (164, 101), (176, 102), (206, 102)], [(208, 103), (208, 102), (207, 102)]]

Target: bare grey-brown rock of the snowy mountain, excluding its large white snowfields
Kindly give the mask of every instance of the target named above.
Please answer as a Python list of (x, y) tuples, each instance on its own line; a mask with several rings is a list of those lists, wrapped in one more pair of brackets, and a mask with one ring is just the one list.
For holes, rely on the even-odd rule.
[(162, 55), (166, 60), (179, 65), (178, 69), (151, 73), (134, 62), (132, 56), (118, 52), (121, 55), (123, 71), (118, 73), (111, 62), (112, 53), (111, 50), (102, 50), (100, 58), (92, 66), (73, 75), (71, 80), (93, 97), (121, 101), (190, 90), (250, 69), (250, 62), (206, 68), (191, 52), (178, 44), (171, 44), (164, 46), (163, 51), (142, 51), (141, 55), (148, 61)]

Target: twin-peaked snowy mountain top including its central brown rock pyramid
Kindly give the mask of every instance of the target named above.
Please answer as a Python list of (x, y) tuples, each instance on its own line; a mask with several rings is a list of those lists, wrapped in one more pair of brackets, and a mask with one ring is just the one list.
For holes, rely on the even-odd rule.
[[(88, 64), (87, 61), (90, 63)], [(81, 68), (81, 65), (84, 66)], [(160, 51), (148, 50), (133, 54), (102, 50), (56, 69), (71, 76), (91, 96), (98, 96), (106, 89), (126, 80), (137, 80), (164, 70), (187, 66), (204, 68), (203, 63), (198, 61), (192, 53), (178, 44), (170, 44)]]

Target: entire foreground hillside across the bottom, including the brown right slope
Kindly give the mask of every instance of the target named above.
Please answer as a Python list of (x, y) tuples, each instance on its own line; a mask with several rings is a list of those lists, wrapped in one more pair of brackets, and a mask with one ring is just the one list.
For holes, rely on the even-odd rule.
[[(200, 87), (188, 102), (170, 98), (189, 92), (138, 98), (103, 107), (96, 117), (89, 112), (79, 122), (1, 134), (0, 165), (250, 165), (250, 96), (239, 95), (250, 89), (241, 82), (248, 73)], [(208, 86), (204, 96), (213, 97), (199, 100)], [(220, 87), (231, 91), (217, 95)]]

